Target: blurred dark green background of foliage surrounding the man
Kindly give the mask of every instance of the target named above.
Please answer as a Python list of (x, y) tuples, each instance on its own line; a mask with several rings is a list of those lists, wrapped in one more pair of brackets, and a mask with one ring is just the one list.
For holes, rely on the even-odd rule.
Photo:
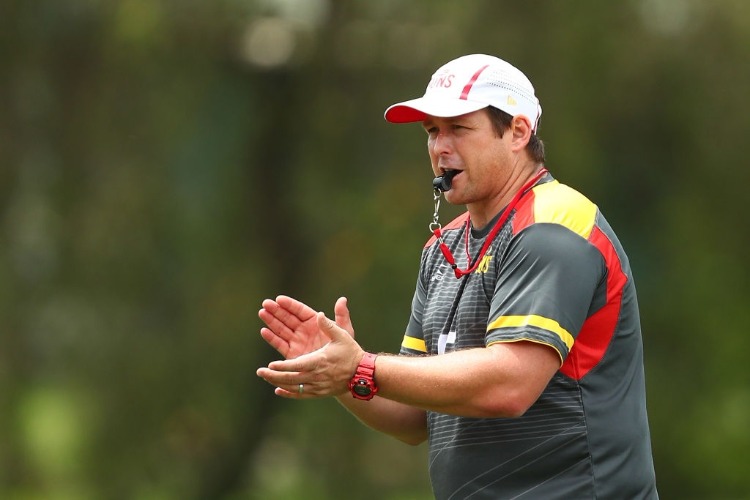
[(257, 311), (398, 349), (432, 175), (382, 113), (473, 52), (630, 255), (662, 498), (750, 498), (744, 0), (0, 2), (0, 497), (431, 498), (424, 446), (273, 396)]

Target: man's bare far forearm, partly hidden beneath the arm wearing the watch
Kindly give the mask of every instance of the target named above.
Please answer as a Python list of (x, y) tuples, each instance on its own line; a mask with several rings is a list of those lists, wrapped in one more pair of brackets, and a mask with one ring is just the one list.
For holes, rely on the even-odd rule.
[(360, 422), (376, 431), (412, 445), (427, 439), (426, 414), (420, 408), (378, 396), (370, 401), (361, 401), (348, 392), (336, 399)]

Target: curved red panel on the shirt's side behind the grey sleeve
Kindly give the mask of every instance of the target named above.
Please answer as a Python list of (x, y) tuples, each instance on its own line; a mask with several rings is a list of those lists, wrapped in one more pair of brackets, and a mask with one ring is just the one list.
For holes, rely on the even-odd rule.
[(581, 380), (604, 357), (617, 328), (622, 292), (628, 281), (620, 257), (607, 235), (594, 227), (589, 241), (599, 249), (607, 265), (607, 303), (583, 323), (575, 344), (560, 367), (562, 373), (575, 380)]

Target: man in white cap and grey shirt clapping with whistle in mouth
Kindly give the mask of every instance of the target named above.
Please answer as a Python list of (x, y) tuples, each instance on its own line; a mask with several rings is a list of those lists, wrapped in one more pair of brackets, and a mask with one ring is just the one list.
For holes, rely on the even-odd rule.
[(282, 296), (259, 316), (286, 360), (258, 375), (429, 439), (439, 499), (657, 498), (628, 260), (597, 206), (544, 168), (540, 116), (526, 76), (481, 54), (388, 108), (422, 123), (445, 198), (467, 207), (444, 228), (436, 216), (400, 355), (357, 344), (346, 299), (334, 323)]

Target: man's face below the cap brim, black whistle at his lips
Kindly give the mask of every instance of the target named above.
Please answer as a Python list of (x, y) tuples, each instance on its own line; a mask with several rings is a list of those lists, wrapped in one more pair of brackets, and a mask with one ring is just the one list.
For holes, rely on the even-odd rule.
[(459, 170), (445, 199), (456, 205), (491, 205), (510, 171), (512, 134), (499, 137), (484, 109), (453, 118), (428, 117), (422, 125), (435, 175)]

